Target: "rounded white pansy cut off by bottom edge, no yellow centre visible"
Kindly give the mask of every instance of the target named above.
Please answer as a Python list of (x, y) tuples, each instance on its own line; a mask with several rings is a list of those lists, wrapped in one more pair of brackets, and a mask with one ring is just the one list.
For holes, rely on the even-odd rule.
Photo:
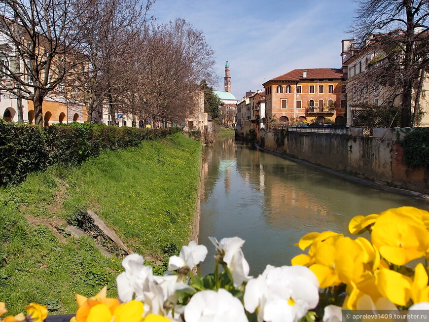
[(227, 290), (204, 290), (191, 297), (184, 310), (186, 322), (248, 322), (240, 300)]

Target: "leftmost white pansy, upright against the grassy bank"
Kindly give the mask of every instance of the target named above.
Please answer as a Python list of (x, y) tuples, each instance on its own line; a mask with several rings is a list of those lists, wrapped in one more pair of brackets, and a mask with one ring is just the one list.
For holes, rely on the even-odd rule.
[(143, 299), (143, 292), (153, 279), (152, 267), (143, 265), (143, 261), (139, 254), (130, 254), (122, 260), (125, 272), (116, 278), (118, 295), (122, 302), (131, 301), (133, 294), (136, 294), (136, 300)]

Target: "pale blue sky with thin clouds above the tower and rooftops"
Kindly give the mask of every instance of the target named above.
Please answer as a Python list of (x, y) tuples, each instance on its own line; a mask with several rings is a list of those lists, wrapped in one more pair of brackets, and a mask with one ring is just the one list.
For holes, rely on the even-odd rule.
[(183, 18), (204, 32), (215, 51), (214, 89), (223, 90), (226, 58), (232, 93), (246, 91), (294, 69), (341, 68), (341, 40), (352, 36), (352, 0), (156, 0), (160, 22)]

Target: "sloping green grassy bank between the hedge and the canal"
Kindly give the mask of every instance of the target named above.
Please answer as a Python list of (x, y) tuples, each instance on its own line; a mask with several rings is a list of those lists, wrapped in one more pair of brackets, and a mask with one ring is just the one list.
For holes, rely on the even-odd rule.
[(9, 313), (32, 301), (72, 313), (75, 292), (94, 295), (104, 285), (116, 295), (121, 259), (104, 257), (92, 238), (75, 239), (61, 224), (87, 208), (143, 255), (162, 261), (185, 244), (200, 151), (178, 133), (102, 153), (79, 168), (57, 165), (0, 190), (0, 301)]

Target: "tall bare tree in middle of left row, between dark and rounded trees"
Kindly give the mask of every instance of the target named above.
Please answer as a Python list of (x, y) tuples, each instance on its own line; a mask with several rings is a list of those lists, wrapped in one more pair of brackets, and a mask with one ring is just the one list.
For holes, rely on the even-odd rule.
[[(153, 0), (113, 0), (94, 3), (85, 16), (83, 41), (87, 71), (69, 79), (70, 102), (81, 101), (87, 109), (88, 121), (97, 119), (98, 111), (108, 104), (114, 117), (116, 102), (129, 83), (130, 66), (145, 38), (147, 13)], [(139, 42), (140, 41), (140, 42)], [(131, 65), (130, 65), (131, 64)]]

